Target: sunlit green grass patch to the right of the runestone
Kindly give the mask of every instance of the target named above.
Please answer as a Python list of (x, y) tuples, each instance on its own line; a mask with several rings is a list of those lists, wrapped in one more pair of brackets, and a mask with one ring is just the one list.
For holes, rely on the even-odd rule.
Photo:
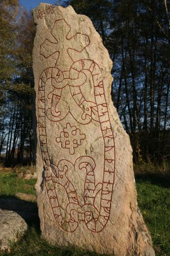
[[(160, 180), (159, 180), (160, 182)], [(170, 189), (167, 182), (137, 179), (138, 205), (152, 235), (156, 255), (170, 255)], [(161, 182), (162, 183), (162, 182)]]

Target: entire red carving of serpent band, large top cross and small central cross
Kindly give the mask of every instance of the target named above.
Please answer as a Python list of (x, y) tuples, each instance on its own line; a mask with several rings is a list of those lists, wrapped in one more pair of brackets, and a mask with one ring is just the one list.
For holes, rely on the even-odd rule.
[[(60, 43), (57, 26), (60, 22), (62, 22), (62, 26), (67, 27), (67, 35), (65, 38), (62, 38), (64, 40), (64, 51), (67, 52), (69, 61), (71, 62), (67, 70), (60, 70), (59, 67), (59, 58), (62, 58), (62, 56), (59, 52)], [(53, 216), (62, 230), (74, 232), (78, 227), (78, 223), (83, 221), (91, 232), (101, 232), (110, 218), (111, 196), (115, 179), (115, 142), (110, 124), (101, 68), (92, 60), (73, 61), (70, 51), (68, 51), (81, 52), (89, 45), (90, 41), (88, 39), (86, 46), (76, 47), (78, 41), (75, 45), (70, 41), (73, 38), (77, 40), (76, 35), (79, 35), (81, 39), (89, 37), (78, 33), (69, 37), (70, 29), (65, 20), (56, 20), (51, 32), (56, 39), (56, 47), (53, 47), (54, 45), (51, 45), (53, 43), (48, 40), (45, 40), (40, 45), (39, 53), (45, 59), (56, 52), (59, 55), (55, 67), (46, 68), (39, 77), (38, 84), (39, 144), (45, 170), (45, 187)], [(74, 48), (69, 48), (70, 44), (74, 45)], [(94, 90), (93, 101), (88, 101), (82, 91), (82, 85), (88, 83), (89, 77)], [(47, 86), (47, 82), (51, 84), (53, 90), (48, 93), (45, 99), (45, 86)], [(67, 101), (67, 105), (64, 108), (62, 106), (62, 102), (64, 102), (62, 97)], [(46, 100), (51, 102), (50, 108), (48, 109), (45, 107)], [(99, 183), (96, 182), (95, 177), (96, 163), (90, 156), (75, 157), (74, 163), (71, 163), (68, 159), (61, 159), (55, 165), (50, 161), (46, 136), (46, 120), (48, 122), (49, 120), (50, 122), (60, 122), (68, 114), (73, 116), (74, 120), (80, 125), (88, 125), (93, 121), (101, 129), (104, 145), (104, 169), (101, 169), (103, 180)], [(76, 140), (74, 141), (75, 135)], [(57, 134), (56, 140), (62, 148), (68, 148), (69, 154), (74, 155), (75, 148), (81, 144), (83, 146), (82, 142), (85, 140), (85, 134), (81, 134), (80, 129), (77, 129), (76, 126), (67, 123), (63, 131)], [(74, 172), (85, 172), (83, 200), (80, 200), (77, 189), (68, 178), (68, 173)], [(62, 212), (63, 206), (59, 202), (59, 191), (57, 191), (56, 185), (62, 186), (66, 191), (68, 203), (64, 214)], [(99, 201), (98, 207), (96, 207), (96, 200)]]

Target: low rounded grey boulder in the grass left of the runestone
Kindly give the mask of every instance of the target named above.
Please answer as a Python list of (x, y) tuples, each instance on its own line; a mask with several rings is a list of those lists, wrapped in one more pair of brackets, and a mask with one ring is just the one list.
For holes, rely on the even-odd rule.
[(10, 248), (10, 242), (17, 242), (26, 230), (27, 223), (17, 212), (0, 209), (0, 251)]

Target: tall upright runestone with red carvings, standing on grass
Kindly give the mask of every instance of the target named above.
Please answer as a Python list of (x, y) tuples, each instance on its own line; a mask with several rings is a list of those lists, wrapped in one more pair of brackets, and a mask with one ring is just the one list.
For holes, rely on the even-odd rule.
[(155, 255), (136, 199), (132, 148), (111, 101), (108, 51), (71, 6), (39, 4), (33, 68), (39, 217), (52, 244)]

